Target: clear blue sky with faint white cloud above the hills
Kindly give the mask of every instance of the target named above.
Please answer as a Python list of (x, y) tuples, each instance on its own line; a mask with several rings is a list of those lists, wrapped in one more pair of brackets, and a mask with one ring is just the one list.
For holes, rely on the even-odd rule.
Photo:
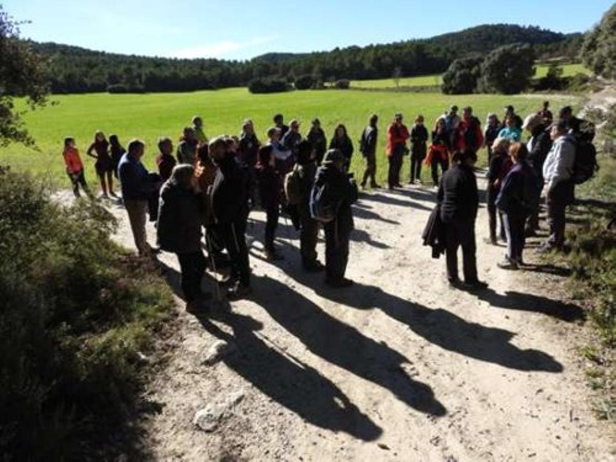
[(612, 0), (0, 0), (22, 36), (124, 54), (249, 59), (389, 43), (483, 23), (588, 30)]

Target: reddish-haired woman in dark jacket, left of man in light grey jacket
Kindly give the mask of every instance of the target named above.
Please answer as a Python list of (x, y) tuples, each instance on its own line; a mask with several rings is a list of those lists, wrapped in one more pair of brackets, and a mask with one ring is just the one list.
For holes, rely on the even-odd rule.
[(507, 254), (505, 261), (498, 263), (502, 269), (517, 270), (524, 264), (524, 225), (533, 209), (537, 177), (526, 158), (528, 151), (522, 143), (509, 147), (509, 157), (513, 167), (503, 180), (503, 185), (496, 198), (496, 207), (503, 213), (503, 224), (507, 235)]

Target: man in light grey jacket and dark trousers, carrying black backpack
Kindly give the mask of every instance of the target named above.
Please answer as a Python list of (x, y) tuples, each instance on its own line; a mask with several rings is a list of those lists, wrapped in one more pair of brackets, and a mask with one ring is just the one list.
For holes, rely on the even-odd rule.
[(575, 163), (575, 140), (567, 134), (567, 121), (560, 120), (551, 126), (550, 137), (554, 144), (543, 164), (543, 178), (547, 185), (549, 238), (540, 252), (560, 250), (565, 243), (565, 209), (573, 202), (575, 185), (571, 180)]

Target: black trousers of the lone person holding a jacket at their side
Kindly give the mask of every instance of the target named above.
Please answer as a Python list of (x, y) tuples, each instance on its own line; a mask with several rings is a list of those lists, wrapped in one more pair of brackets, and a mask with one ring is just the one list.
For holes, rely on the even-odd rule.
[(458, 280), (458, 247), (462, 246), (464, 280), (477, 281), (477, 247), (475, 242), (475, 220), (456, 219), (445, 226), (445, 254), (447, 256), (447, 278)]

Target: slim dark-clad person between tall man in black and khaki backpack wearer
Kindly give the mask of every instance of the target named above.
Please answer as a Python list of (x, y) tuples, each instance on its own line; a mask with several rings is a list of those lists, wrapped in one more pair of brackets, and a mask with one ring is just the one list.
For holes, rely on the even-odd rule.
[(261, 206), (265, 209), (265, 257), (269, 261), (281, 260), (274, 246), (278, 217), (280, 217), (280, 175), (276, 171), (274, 148), (270, 145), (261, 147), (256, 165), (256, 176), (259, 182)]

